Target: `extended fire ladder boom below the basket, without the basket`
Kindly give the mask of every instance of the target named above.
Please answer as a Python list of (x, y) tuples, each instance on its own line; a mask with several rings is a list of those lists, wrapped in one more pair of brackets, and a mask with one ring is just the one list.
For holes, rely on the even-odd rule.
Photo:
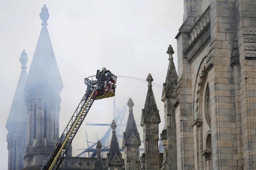
[(74, 139), (76, 132), (94, 102), (95, 91), (96, 88), (90, 89), (90, 92), (87, 92), (87, 95), (84, 94), (80, 104), (41, 170), (56, 170), (60, 166), (66, 150)]

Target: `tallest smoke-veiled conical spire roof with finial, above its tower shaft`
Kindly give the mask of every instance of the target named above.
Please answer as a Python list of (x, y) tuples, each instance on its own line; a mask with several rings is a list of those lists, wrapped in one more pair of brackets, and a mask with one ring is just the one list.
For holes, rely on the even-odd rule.
[(42, 29), (28, 72), (25, 90), (28, 92), (32, 88), (50, 88), (50, 91), (59, 93), (63, 88), (63, 84), (46, 27), (46, 21), (49, 18), (46, 5), (42, 8), (40, 18), (42, 20)]

